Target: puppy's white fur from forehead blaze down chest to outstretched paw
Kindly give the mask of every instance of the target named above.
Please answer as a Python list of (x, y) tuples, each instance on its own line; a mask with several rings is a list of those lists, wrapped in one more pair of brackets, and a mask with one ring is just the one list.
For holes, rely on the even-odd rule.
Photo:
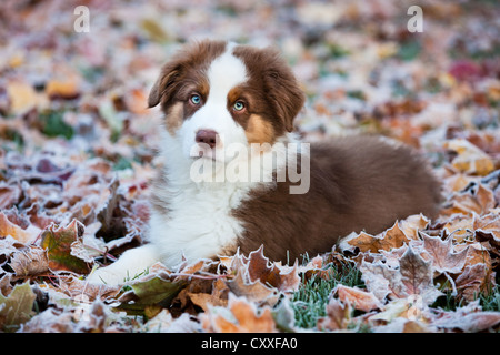
[[(224, 146), (232, 143), (248, 146), (244, 130), (233, 121), (227, 108), (228, 92), (247, 79), (244, 64), (230, 50), (231, 47), (208, 70), (210, 92), (206, 104), (186, 120), (177, 133), (162, 132), (161, 150), (168, 185), (153, 192), (168, 204), (168, 215), (152, 210), (149, 244), (129, 250), (114, 264), (97, 270), (90, 282), (120, 284), (127, 275), (132, 277), (158, 261), (173, 268), (181, 263), (182, 256), (188, 261), (210, 257), (226, 246), (236, 245), (243, 226), (231, 215), (231, 210), (238, 209), (249, 191), (262, 182), (194, 182), (190, 175), (194, 161), (190, 150), (198, 130), (219, 132)], [(281, 141), (289, 139), (292, 135), (288, 134)], [(259, 175), (261, 173), (263, 181), (271, 181), (272, 172), (284, 166), (287, 151), (282, 144), (274, 144), (266, 154), (276, 155), (273, 165), (263, 165), (251, 156), (250, 164), (259, 171)], [(234, 156), (226, 153), (216, 158), (214, 164), (224, 169)], [(244, 162), (249, 156), (239, 155), (238, 159)]]

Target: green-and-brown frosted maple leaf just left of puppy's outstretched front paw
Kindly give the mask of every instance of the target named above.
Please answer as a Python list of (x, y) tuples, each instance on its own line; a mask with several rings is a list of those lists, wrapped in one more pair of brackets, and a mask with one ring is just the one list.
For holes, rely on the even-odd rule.
[(41, 246), (47, 250), (49, 267), (52, 271), (72, 271), (87, 274), (89, 264), (72, 254), (71, 245), (83, 236), (84, 226), (73, 220), (66, 226), (51, 224), (41, 234)]

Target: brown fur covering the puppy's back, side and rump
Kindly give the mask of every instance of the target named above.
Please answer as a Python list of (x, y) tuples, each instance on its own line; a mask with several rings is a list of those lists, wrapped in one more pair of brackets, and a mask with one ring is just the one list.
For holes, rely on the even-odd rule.
[(310, 190), (289, 193), (290, 182), (254, 191), (233, 211), (243, 221), (240, 250), (264, 245), (271, 260), (328, 252), (351, 232), (377, 234), (411, 214), (436, 216), (440, 185), (409, 148), (370, 136), (311, 145)]

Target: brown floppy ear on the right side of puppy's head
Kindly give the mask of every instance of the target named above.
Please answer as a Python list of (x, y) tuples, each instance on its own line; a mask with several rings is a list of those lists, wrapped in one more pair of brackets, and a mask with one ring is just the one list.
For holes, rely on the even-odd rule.
[(266, 49), (271, 57), (266, 73), (266, 87), (277, 115), (281, 119), (288, 132), (293, 131), (293, 120), (299, 114), (306, 101), (290, 67), (278, 51)]

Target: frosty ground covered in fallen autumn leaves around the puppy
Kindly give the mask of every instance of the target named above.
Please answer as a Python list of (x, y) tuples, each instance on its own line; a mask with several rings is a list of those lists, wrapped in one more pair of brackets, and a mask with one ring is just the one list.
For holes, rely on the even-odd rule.
[[(0, 331), (498, 331), (499, 8), (422, 1), (424, 31), (410, 33), (407, 2), (89, 1), (78, 33), (76, 2), (2, 1)], [(309, 97), (304, 140), (376, 133), (420, 150), (443, 182), (440, 216), (292, 265), (259, 248), (88, 284), (143, 241), (160, 164), (148, 89), (207, 33), (280, 48)]]

